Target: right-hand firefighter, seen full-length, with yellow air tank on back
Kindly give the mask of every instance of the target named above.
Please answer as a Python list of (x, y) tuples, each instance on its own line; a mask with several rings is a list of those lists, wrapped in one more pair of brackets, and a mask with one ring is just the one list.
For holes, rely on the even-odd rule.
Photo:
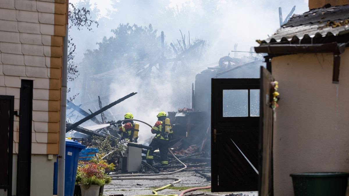
[[(172, 129), (170, 129), (170, 133), (167, 135), (165, 133), (165, 119), (167, 115), (165, 112), (159, 112), (156, 116), (157, 121), (154, 127), (151, 129), (152, 134), (156, 134), (149, 146), (153, 147), (153, 149), (147, 151), (147, 163), (153, 165), (153, 153), (154, 150), (159, 149), (161, 164), (168, 165), (169, 161), (167, 158), (167, 152), (169, 150), (170, 140), (173, 134)], [(171, 128), (171, 125), (169, 125)]]

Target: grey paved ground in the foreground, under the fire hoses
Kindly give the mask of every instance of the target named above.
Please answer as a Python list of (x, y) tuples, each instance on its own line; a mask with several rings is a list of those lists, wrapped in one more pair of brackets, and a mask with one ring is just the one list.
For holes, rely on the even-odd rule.
[[(209, 173), (206, 173), (209, 174)], [(202, 177), (200, 174), (195, 172), (180, 172), (172, 175), (160, 175), (160, 176), (136, 176), (139, 178), (178, 178), (181, 181), (179, 183), (174, 184), (174, 187), (203, 187), (210, 186), (211, 182), (207, 181), (206, 178)], [(127, 178), (127, 177), (120, 177)], [(132, 177), (135, 178), (135, 177)], [(123, 194), (125, 196), (131, 195), (153, 195), (152, 190), (163, 187), (166, 184), (172, 183), (175, 180), (112, 180), (112, 182), (108, 185), (104, 186), (104, 196), (109, 195), (118, 195)], [(164, 189), (160, 190), (157, 193), (159, 195), (170, 195), (177, 194), (179, 195), (182, 190), (174, 190), (174, 189)], [(250, 192), (229, 192), (229, 193), (211, 193), (209, 191), (193, 191), (187, 193), (185, 195), (233, 195), (239, 194), (240, 196), (258, 196), (258, 191), (250, 191)]]

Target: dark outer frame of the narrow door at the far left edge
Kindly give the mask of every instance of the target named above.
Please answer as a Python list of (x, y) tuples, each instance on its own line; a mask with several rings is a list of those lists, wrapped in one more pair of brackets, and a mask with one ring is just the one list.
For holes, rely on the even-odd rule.
[[(14, 96), (0, 95), (0, 100), (10, 101), (9, 110), (9, 146), (8, 146), (8, 184), (7, 186), (0, 186), (0, 189), (7, 190), (7, 196), (12, 196), (12, 163), (13, 163), (13, 120), (14, 120)], [(1, 123), (1, 119), (0, 119)]]

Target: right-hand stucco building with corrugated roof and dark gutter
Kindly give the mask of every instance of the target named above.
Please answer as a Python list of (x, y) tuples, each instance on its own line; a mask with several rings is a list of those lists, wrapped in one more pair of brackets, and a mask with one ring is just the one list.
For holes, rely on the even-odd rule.
[(309, 12), (293, 15), (274, 35), (258, 40), (255, 51), (267, 54), (280, 93), (273, 190), (260, 196), (293, 195), (292, 173), (349, 172), (348, 4), (310, 0)]

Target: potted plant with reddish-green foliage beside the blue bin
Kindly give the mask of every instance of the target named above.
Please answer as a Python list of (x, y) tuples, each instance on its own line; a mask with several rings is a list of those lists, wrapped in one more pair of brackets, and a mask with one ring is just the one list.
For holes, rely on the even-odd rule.
[(111, 182), (111, 177), (105, 173), (106, 168), (113, 170), (114, 164), (107, 164), (105, 160), (96, 158), (79, 163), (76, 184), (80, 185), (82, 196), (98, 196), (101, 186)]

